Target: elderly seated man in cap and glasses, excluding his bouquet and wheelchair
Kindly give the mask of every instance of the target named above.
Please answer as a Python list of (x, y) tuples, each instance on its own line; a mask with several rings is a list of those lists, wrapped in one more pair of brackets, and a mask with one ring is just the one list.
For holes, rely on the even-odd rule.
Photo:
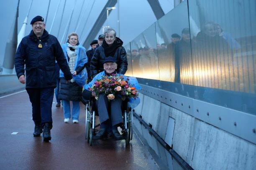
[[(117, 64), (115, 61), (115, 58), (113, 57), (106, 57), (104, 60), (104, 71), (98, 73), (91, 82), (89, 82), (87, 85), (84, 85), (84, 91), (83, 91), (83, 97), (86, 100), (90, 100), (92, 97), (95, 97), (95, 92), (91, 92), (90, 87), (96, 82), (97, 80), (101, 79), (104, 75), (113, 75), (117, 74)], [(117, 74), (120, 75), (120, 74)], [(123, 77), (125, 77), (123, 75)], [(125, 77), (127, 78), (127, 77)], [(136, 82), (136, 87), (140, 88), (138, 85), (138, 82)], [(129, 101), (132, 103), (131, 101)], [(107, 129), (109, 128), (109, 125), (112, 125), (112, 132), (113, 132), (113, 138), (115, 140), (123, 140), (123, 136), (119, 133), (118, 127), (121, 126), (124, 122), (123, 116), (122, 116), (122, 97), (116, 95), (115, 99), (108, 100), (105, 93), (102, 93), (98, 96), (97, 101), (95, 102), (97, 112), (100, 119), (100, 130), (98, 133), (93, 137), (93, 139), (105, 139), (108, 136)], [(139, 98), (136, 101), (136, 105), (139, 103)], [(133, 105), (134, 106), (134, 105)]]

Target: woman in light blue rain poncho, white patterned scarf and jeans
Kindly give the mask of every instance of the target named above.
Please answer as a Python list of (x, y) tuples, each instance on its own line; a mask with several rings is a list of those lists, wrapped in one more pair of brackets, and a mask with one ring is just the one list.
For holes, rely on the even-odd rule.
[(80, 106), (79, 102), (82, 99), (82, 87), (87, 80), (87, 70), (83, 67), (87, 63), (87, 55), (85, 48), (79, 45), (78, 35), (75, 32), (69, 34), (69, 40), (63, 44), (62, 50), (67, 59), (70, 72), (73, 78), (70, 82), (64, 79), (63, 72), (60, 70), (60, 90), (59, 99), (63, 101), (64, 122), (69, 122), (71, 117), (70, 101), (73, 102), (72, 120), (73, 123), (78, 123)]

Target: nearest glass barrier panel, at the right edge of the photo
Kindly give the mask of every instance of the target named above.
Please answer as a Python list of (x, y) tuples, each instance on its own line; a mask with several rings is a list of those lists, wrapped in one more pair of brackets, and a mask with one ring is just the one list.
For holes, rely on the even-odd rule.
[(255, 0), (189, 0), (195, 98), (256, 114)]

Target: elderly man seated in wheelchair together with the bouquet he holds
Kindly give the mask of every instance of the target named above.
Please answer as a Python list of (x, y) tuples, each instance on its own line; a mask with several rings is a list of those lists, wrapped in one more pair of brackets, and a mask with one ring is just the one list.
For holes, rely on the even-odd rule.
[(100, 130), (93, 139), (107, 138), (108, 126), (111, 123), (113, 138), (124, 139), (118, 132), (123, 122), (122, 103), (128, 101), (130, 107), (136, 107), (140, 100), (137, 90), (140, 89), (135, 77), (118, 74), (118, 65), (114, 57), (106, 57), (103, 63), (104, 71), (98, 73), (91, 82), (84, 85), (83, 97), (96, 99), (96, 108), (100, 119)]

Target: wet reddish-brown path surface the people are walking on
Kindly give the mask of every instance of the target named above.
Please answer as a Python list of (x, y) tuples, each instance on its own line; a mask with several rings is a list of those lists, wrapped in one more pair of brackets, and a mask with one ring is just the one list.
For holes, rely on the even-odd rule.
[[(78, 124), (73, 124), (71, 120), (65, 124), (62, 107), (55, 105), (56, 102), (52, 107), (52, 140), (44, 143), (42, 136), (33, 137), (34, 124), (28, 94), (20, 92), (0, 98), (0, 169), (163, 169), (164, 166), (156, 163), (147, 150), (149, 148), (141, 143), (136, 133), (133, 133), (128, 147), (125, 147), (124, 140), (112, 139), (97, 140), (89, 146), (84, 135), (84, 105), (80, 105)], [(11, 135), (13, 132), (18, 134)], [(170, 162), (167, 159), (172, 159), (169, 156), (165, 158), (164, 163), (167, 164)]]

